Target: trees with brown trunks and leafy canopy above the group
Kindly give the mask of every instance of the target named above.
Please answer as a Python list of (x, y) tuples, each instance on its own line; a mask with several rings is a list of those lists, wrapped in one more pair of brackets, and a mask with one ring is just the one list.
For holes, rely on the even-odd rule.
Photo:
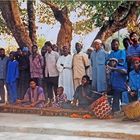
[[(127, 26), (130, 31), (136, 30), (139, 26), (139, 22), (137, 23), (139, 5), (139, 1), (125, 0), (0, 1), (0, 33), (11, 34), (20, 47), (30, 48), (36, 43), (35, 21), (46, 24), (55, 24), (59, 21), (61, 26), (57, 39), (59, 47), (70, 46), (72, 32), (87, 34), (96, 27), (100, 27), (96, 38), (105, 41), (113, 33)], [(71, 21), (74, 12), (77, 19)]]

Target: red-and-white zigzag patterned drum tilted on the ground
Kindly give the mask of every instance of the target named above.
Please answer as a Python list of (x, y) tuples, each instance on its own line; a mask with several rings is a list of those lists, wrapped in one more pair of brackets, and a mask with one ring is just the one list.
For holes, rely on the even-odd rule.
[(109, 115), (110, 111), (112, 110), (106, 96), (100, 97), (98, 100), (93, 102), (90, 107), (93, 113), (99, 119), (106, 118)]

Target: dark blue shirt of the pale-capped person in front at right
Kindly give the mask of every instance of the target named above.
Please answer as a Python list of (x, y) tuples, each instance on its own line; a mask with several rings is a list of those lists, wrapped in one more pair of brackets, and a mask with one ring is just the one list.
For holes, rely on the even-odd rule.
[[(123, 66), (117, 66), (118, 69), (124, 69)], [(126, 69), (125, 69), (126, 70)], [(113, 89), (126, 90), (127, 75), (117, 71), (111, 72), (110, 83)]]

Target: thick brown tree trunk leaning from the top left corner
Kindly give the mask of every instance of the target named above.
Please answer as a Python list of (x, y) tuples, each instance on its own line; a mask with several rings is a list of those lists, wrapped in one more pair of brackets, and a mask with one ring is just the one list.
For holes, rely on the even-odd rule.
[(20, 18), (20, 11), (16, 0), (0, 0), (0, 9), (2, 16), (11, 30), (20, 48), (28, 47), (31, 49), (32, 41), (29, 37), (23, 21)]

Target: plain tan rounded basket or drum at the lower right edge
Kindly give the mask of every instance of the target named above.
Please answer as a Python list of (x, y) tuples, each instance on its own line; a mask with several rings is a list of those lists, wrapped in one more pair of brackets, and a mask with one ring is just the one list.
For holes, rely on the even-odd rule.
[(140, 118), (140, 101), (135, 101), (133, 103), (125, 105), (122, 109), (128, 119)]

